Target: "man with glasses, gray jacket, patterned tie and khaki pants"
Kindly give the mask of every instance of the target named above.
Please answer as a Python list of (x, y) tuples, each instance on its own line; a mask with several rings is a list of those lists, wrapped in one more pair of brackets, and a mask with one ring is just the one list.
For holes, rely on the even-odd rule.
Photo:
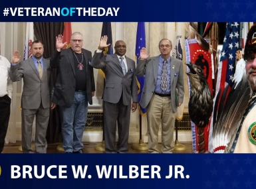
[(183, 65), (181, 60), (170, 56), (170, 40), (160, 40), (159, 50), (160, 56), (152, 58), (146, 54), (146, 48), (140, 50), (136, 76), (146, 76), (140, 105), (147, 109), (148, 151), (158, 153), (158, 131), (162, 124), (162, 153), (172, 153), (176, 111), (184, 99)]

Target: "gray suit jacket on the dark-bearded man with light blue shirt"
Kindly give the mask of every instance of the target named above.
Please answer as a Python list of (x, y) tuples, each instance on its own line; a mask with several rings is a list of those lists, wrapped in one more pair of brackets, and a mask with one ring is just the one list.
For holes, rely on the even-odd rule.
[(21, 95), (21, 108), (37, 109), (41, 101), (44, 108), (51, 106), (50, 102), (50, 61), (43, 59), (43, 78), (39, 78), (39, 72), (33, 62), (29, 58), (15, 66), (11, 66), (10, 77), (13, 82), (17, 82), (23, 78), (23, 93)]

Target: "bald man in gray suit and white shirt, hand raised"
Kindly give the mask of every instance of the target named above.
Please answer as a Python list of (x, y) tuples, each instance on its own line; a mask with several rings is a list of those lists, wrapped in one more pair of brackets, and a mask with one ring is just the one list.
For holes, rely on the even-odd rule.
[[(102, 36), (91, 62), (93, 68), (102, 69), (106, 76), (103, 92), (105, 152), (126, 153), (128, 151), (130, 104), (132, 102), (132, 112), (134, 112), (138, 102), (135, 62), (125, 56), (126, 43), (122, 40), (116, 41), (115, 54), (105, 54), (100, 59), (103, 48), (110, 45), (106, 44), (107, 40), (107, 36)], [(117, 148), (115, 147), (116, 121), (118, 122)]]

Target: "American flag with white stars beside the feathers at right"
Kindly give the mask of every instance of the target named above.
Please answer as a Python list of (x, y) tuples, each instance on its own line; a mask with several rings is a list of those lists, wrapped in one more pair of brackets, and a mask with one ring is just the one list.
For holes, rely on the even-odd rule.
[(221, 58), (219, 60), (216, 92), (219, 88), (224, 89), (227, 84), (230, 87), (233, 86), (232, 79), (235, 73), (235, 58), (239, 48), (239, 30), (239, 23), (227, 23)]

